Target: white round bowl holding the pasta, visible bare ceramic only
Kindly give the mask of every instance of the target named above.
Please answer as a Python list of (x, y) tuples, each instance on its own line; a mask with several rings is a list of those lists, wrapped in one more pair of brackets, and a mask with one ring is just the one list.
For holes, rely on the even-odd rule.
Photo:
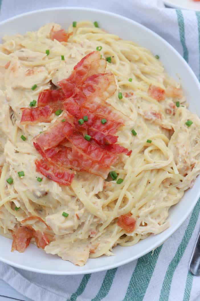
[[(117, 34), (123, 39), (137, 42), (139, 45), (150, 49), (153, 54), (159, 54), (167, 72), (175, 78), (176, 74), (180, 75), (184, 93), (190, 104), (190, 110), (200, 116), (200, 85), (188, 64), (160, 36), (130, 19), (88, 8), (51, 8), (22, 14), (1, 22), (0, 36), (16, 33), (24, 34), (26, 31), (37, 30), (48, 22), (60, 23), (64, 28), (67, 28), (74, 20), (98, 21), (100, 27), (110, 33)], [(10, 251), (11, 240), (2, 236), (0, 236), (0, 260), (17, 268), (57, 275), (87, 274), (115, 268), (135, 260), (160, 246), (184, 222), (194, 208), (199, 195), (200, 177), (197, 178), (194, 187), (185, 193), (182, 200), (170, 209), (170, 228), (163, 233), (151, 235), (147, 239), (139, 241), (135, 246), (117, 246), (114, 248), (116, 256), (101, 256), (89, 259), (83, 267), (73, 265), (69, 261), (63, 261), (56, 255), (46, 254), (34, 245), (30, 245), (24, 253), (12, 253)]]

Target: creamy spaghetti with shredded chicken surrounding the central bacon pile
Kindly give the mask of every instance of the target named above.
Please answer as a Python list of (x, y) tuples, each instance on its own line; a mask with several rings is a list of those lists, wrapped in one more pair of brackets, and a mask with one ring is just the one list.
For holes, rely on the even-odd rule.
[[(49, 23), (24, 36), (4, 36), (1, 44), (0, 233), (16, 239), (25, 226), (27, 245), (31, 240), (82, 266), (169, 227), (169, 208), (200, 172), (200, 120), (158, 56), (89, 21), (74, 26), (67, 42), (51, 38), (61, 26)], [(125, 120), (117, 143), (132, 153), (119, 154), (107, 178), (76, 170), (70, 185), (60, 185), (37, 171), (41, 155), (33, 139), (58, 118), (65, 121), (66, 113), (22, 124), (21, 108), (31, 108), (43, 90), (58, 88), (93, 51), (115, 76), (116, 91), (105, 104), (118, 112), (116, 120)]]

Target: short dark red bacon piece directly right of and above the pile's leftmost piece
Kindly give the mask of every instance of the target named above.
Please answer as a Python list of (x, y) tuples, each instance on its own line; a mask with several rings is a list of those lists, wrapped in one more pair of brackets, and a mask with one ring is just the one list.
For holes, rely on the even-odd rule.
[(52, 112), (55, 113), (57, 110), (63, 110), (64, 99), (65, 95), (62, 89), (46, 89), (40, 92), (37, 100), (37, 106), (44, 107), (46, 105), (49, 105), (52, 108)]

